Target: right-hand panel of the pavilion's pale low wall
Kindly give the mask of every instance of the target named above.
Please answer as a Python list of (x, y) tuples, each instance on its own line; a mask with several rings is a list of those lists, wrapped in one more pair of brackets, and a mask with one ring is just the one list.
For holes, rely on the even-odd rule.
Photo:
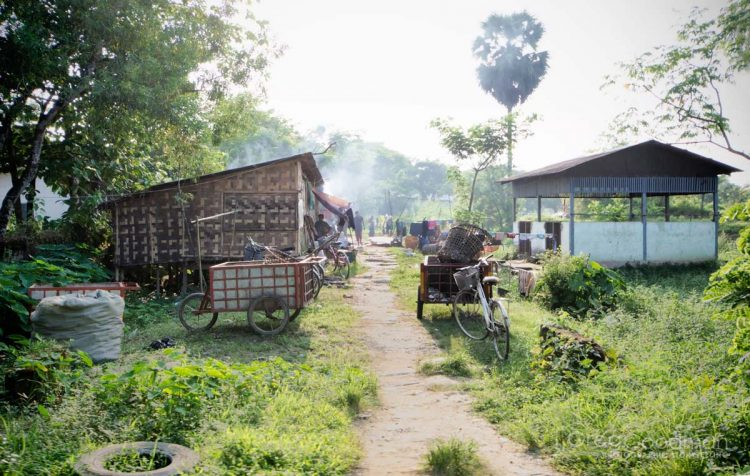
[(647, 223), (646, 241), (651, 263), (711, 261), (715, 257), (716, 226), (711, 221)]

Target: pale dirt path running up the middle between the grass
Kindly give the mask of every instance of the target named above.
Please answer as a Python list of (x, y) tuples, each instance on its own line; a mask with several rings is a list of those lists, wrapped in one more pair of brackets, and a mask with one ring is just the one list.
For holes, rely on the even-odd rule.
[(478, 444), (491, 474), (558, 474), (473, 414), (471, 398), (450, 390), (456, 381), (417, 372), (418, 360), (439, 349), (416, 317), (399, 309), (388, 286), (395, 261), (377, 247), (366, 248), (357, 259), (368, 271), (353, 280), (355, 307), (362, 312), (361, 330), (378, 377), (381, 406), (359, 425), (364, 457), (354, 474), (418, 473), (430, 442), (454, 436)]

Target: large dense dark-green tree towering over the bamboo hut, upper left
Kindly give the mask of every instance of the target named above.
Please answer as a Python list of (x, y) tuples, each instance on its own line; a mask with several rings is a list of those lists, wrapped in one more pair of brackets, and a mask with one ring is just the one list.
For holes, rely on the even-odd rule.
[[(234, 3), (0, 3), (0, 171), (12, 179), (0, 206), (0, 242), (40, 170), (52, 175), (73, 164), (69, 181), (79, 184), (97, 175), (103, 183), (104, 169), (114, 180), (169, 172), (168, 163), (153, 164), (164, 145), (153, 138), (171, 131), (196, 139), (214, 101), (264, 77), (274, 53), (264, 27), (241, 25)], [(170, 137), (173, 146), (190, 143)], [(43, 154), (44, 147), (56, 153)]]

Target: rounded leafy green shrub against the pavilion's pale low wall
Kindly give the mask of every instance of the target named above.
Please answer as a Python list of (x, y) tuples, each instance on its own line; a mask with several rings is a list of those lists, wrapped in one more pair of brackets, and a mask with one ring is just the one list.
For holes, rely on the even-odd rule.
[(613, 308), (625, 289), (622, 277), (586, 256), (547, 254), (536, 299), (552, 310), (582, 319), (600, 317)]

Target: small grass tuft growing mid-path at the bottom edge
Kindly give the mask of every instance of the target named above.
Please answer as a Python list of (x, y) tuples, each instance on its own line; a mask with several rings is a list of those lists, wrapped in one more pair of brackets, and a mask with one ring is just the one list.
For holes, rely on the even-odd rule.
[(424, 466), (425, 472), (435, 476), (474, 476), (483, 474), (484, 469), (477, 444), (458, 438), (433, 441)]

